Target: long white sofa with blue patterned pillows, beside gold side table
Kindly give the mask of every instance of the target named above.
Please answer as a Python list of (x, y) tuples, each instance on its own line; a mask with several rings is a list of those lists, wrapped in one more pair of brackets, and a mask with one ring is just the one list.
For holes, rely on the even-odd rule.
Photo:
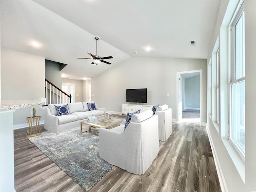
[[(96, 110), (88, 110), (88, 102), (74, 102), (68, 103), (69, 114), (57, 115), (54, 105), (62, 106), (65, 104), (48, 104), (45, 108), (44, 128), (50, 132), (62, 132), (79, 126), (79, 122), (86, 119), (88, 116), (103, 116), (106, 112), (105, 108), (98, 108)], [(90, 102), (93, 103), (93, 102)]]

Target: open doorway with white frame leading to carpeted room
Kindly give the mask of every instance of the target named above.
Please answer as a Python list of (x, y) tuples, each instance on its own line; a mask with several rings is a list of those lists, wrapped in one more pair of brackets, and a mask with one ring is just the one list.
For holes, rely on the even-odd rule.
[(177, 72), (177, 121), (202, 124), (202, 70)]

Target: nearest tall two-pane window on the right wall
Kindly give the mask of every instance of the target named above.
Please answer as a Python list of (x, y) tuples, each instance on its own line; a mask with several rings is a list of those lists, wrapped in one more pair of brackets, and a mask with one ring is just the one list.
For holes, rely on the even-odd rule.
[(244, 4), (239, 6), (230, 24), (229, 137), (238, 153), (245, 157)]

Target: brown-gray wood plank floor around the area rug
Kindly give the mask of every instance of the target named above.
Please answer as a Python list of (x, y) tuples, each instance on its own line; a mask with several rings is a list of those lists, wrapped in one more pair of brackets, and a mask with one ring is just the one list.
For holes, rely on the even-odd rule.
[[(26, 128), (14, 130), (16, 192), (84, 192), (25, 135)], [(116, 167), (89, 190), (107, 191), (221, 192), (206, 128), (173, 123), (172, 135), (160, 142), (160, 152), (144, 175)]]

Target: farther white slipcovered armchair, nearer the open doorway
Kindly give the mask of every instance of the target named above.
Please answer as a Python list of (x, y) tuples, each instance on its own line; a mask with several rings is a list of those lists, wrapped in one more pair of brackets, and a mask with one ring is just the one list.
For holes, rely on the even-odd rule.
[(172, 108), (166, 104), (159, 106), (155, 115), (158, 115), (159, 140), (166, 141), (172, 134)]

